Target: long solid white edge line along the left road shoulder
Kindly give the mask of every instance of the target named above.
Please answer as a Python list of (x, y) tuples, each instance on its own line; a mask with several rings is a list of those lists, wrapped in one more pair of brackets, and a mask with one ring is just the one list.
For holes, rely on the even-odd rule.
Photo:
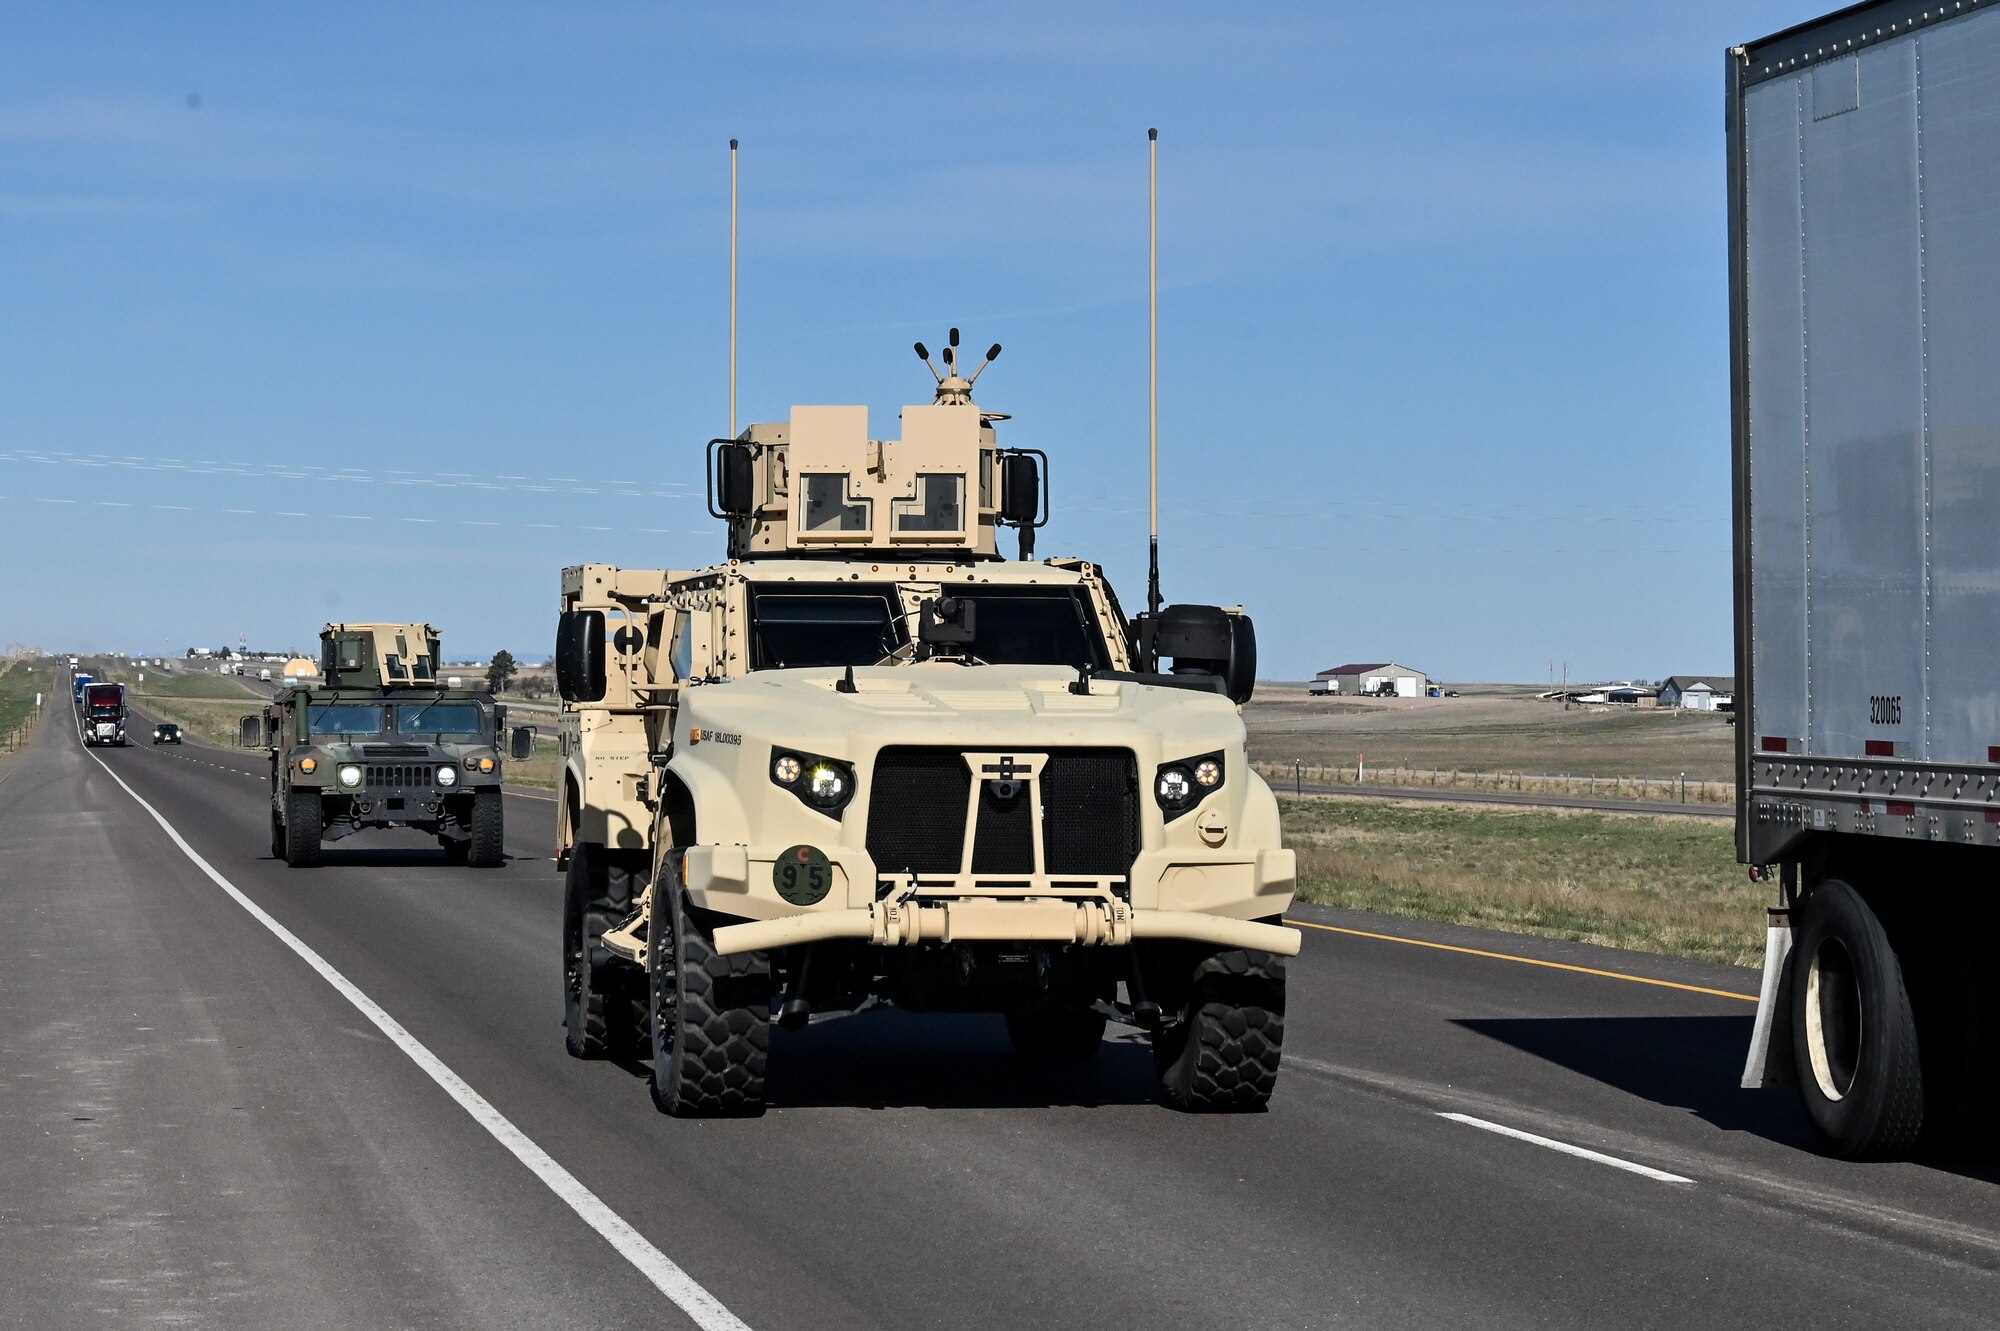
[(632, 1229), (632, 1225), (626, 1223), (622, 1215), (604, 1205), (604, 1201), (588, 1187), (584, 1187), (574, 1173), (558, 1165), (548, 1151), (538, 1147), (524, 1131), (514, 1127), (514, 1123), (510, 1123), (504, 1113), (494, 1109), (484, 1095), (466, 1085), (464, 1077), (454, 1073), (444, 1063), (444, 1059), (426, 1049), (424, 1043), (416, 1035), (406, 1031), (402, 1023), (396, 1021), (396, 1017), (388, 1015), (388, 1011), (384, 1011), (380, 1003), (362, 993), (352, 979), (336, 971), (332, 963), (326, 961), (326, 957), (316, 953), (296, 933), (278, 923), (268, 911), (264, 911), (262, 905), (246, 897), (236, 887), (236, 883), (222, 877), (222, 873), (212, 863), (202, 859), (200, 851), (188, 845), (186, 837), (182, 837), (180, 831), (176, 831), (174, 825), (166, 821), (156, 807), (146, 803), (146, 799), (140, 797), (136, 789), (124, 783), (124, 777), (112, 771), (110, 763), (92, 753), (88, 747), (84, 749), (84, 753), (92, 757), (100, 767), (104, 767), (104, 773), (110, 779), (118, 781), (118, 787), (124, 789), (124, 793), (132, 795), (134, 803), (138, 803), (138, 807), (146, 809), (146, 813), (152, 815), (152, 821), (160, 823), (160, 829), (166, 831), (168, 837), (172, 837), (174, 845), (180, 847), (182, 855), (194, 861), (194, 867), (206, 873), (216, 887), (230, 893), (230, 899), (234, 899), (236, 905), (250, 911), (252, 919), (270, 929), (280, 943), (290, 947), (294, 953), (298, 953), (298, 957), (306, 965), (318, 971), (320, 979), (330, 983), (340, 993), (340, 997), (350, 1001), (356, 1007), (356, 1011), (360, 1011), (374, 1023), (378, 1031), (388, 1035), (388, 1039), (398, 1049), (402, 1049), (412, 1063), (422, 1067), (432, 1081), (444, 1087), (446, 1095), (458, 1101), (460, 1109), (472, 1115), (474, 1123), (492, 1133), (492, 1139), (504, 1145), (514, 1155), (514, 1159), (524, 1163), (528, 1171), (534, 1173), (534, 1177), (542, 1179), (542, 1183), (548, 1185), (548, 1191), (562, 1197), (562, 1201), (568, 1203), (568, 1207), (576, 1211), (576, 1215), (582, 1217), (586, 1225), (604, 1235), (604, 1241), (610, 1243), (620, 1257), (638, 1267), (638, 1273), (644, 1275), (648, 1281), (652, 1281), (654, 1289), (664, 1293), (674, 1303), (674, 1307), (678, 1307), (682, 1313), (688, 1315), (688, 1319), (694, 1321), (694, 1325), (702, 1327), (702, 1331), (750, 1331), (748, 1323), (744, 1323), (740, 1317), (736, 1317), (736, 1313), (726, 1309), (722, 1301), (716, 1299), (712, 1293), (702, 1289), (702, 1285), (698, 1285), (692, 1275), (674, 1265), (674, 1261), (658, 1247), (654, 1247), (646, 1239), (646, 1235), (642, 1235), (638, 1229)]

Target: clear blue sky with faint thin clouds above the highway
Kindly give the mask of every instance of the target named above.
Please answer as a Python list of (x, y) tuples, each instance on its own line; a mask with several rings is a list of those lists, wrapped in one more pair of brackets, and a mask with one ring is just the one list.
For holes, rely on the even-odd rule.
[(538, 658), (564, 564), (712, 562), (732, 136), (740, 418), (998, 340), (1134, 606), (1160, 126), (1170, 600), (1268, 677), (1726, 671), (1722, 50), (1818, 8), (16, 8), (0, 642)]

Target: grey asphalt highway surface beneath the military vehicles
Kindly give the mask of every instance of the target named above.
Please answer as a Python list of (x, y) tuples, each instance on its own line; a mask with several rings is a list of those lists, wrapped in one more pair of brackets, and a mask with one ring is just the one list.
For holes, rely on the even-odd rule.
[(562, 1049), (550, 801), (508, 799), (490, 871), (384, 833), (286, 869), (266, 809), (258, 755), (86, 751), (62, 705), (0, 765), (0, 1323), (2000, 1309), (2000, 1173), (1816, 1155), (1734, 1085), (1748, 971), (1302, 909), (1268, 1113), (1158, 1107), (1118, 1027), (1036, 1069), (994, 1019), (874, 1011), (776, 1033), (762, 1119), (674, 1121)]

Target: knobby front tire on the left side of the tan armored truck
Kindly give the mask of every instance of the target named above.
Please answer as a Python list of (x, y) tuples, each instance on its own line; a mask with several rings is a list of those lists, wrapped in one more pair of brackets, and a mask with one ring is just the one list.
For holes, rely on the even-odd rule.
[[(662, 877), (672, 885), (678, 875)], [(654, 895), (646, 935), (652, 1103), (676, 1119), (764, 1113), (770, 957), (724, 957), (714, 927), (678, 887)]]

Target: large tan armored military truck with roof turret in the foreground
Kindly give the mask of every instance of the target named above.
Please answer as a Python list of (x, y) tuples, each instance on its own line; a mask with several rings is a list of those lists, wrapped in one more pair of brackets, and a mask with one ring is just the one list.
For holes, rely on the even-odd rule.
[(994, 1011), (1022, 1057), (1088, 1059), (1116, 1017), (1168, 1103), (1258, 1107), (1298, 931), (1250, 620), (1128, 622), (1098, 566), (1032, 562), (1046, 458), (946, 368), (900, 440), (858, 406), (714, 440), (726, 564), (564, 570), (570, 1053), (756, 1113), (774, 1019)]

